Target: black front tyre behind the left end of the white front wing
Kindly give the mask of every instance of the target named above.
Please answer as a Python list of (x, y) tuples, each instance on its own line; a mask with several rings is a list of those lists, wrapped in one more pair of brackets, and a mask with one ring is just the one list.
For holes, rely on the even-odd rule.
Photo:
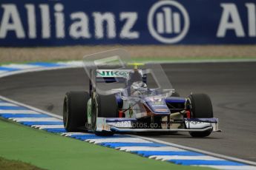
[(92, 115), (91, 115), (91, 127), (95, 135), (110, 136), (114, 135), (113, 132), (96, 131), (96, 118), (117, 118), (118, 117), (118, 103), (115, 95), (99, 95), (93, 99), (92, 102)]

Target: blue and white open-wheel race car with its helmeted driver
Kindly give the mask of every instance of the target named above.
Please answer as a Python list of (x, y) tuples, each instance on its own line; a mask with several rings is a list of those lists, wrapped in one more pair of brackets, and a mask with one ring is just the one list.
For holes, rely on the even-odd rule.
[(128, 63), (123, 50), (85, 56), (88, 92), (67, 92), (63, 121), (68, 132), (96, 135), (131, 132), (220, 132), (211, 99), (180, 97), (160, 64)]

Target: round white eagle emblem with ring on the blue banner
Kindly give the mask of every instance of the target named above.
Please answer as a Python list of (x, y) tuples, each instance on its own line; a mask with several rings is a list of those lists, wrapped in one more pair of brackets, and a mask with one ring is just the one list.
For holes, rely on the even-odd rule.
[(176, 43), (186, 36), (188, 29), (188, 12), (177, 1), (159, 1), (149, 10), (148, 30), (158, 41)]

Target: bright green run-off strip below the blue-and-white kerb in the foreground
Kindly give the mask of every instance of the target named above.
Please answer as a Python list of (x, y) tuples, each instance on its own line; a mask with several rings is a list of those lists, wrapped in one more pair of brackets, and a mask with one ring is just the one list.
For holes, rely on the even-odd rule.
[[(0, 118), (0, 157), (42, 169), (205, 169), (151, 160)], [(11, 167), (10, 167), (11, 169)]]

